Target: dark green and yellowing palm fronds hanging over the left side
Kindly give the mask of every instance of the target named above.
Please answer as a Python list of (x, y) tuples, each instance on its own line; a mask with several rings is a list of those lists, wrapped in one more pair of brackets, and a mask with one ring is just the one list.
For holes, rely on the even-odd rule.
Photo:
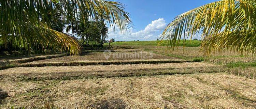
[[(41, 46), (42, 48), (59, 48), (68, 50), (72, 55), (78, 55), (81, 45), (73, 37), (49, 28), (51, 24), (48, 13), (58, 10), (66, 20), (76, 22), (81, 13), (81, 20), (88, 16), (106, 15), (104, 20), (111, 27), (125, 31), (132, 27), (129, 13), (124, 11), (124, 5), (105, 0), (1, 0), (0, 1), (0, 42), (6, 48), (12, 46)], [(44, 21), (41, 21), (44, 19)]]

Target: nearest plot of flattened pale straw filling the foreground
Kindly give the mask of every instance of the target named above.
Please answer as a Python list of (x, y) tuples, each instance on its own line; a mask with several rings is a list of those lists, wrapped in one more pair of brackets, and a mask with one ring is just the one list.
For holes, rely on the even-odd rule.
[(79, 80), (0, 81), (10, 106), (42, 108), (256, 108), (256, 81), (213, 73)]

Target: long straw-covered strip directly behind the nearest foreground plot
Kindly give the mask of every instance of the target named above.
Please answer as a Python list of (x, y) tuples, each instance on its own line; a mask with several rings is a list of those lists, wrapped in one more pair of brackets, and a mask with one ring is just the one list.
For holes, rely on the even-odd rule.
[(60, 67), (18, 67), (0, 71), (3, 79), (70, 80), (82, 78), (130, 77), (222, 72), (222, 66), (207, 63), (168, 63), (130, 65), (88, 65)]

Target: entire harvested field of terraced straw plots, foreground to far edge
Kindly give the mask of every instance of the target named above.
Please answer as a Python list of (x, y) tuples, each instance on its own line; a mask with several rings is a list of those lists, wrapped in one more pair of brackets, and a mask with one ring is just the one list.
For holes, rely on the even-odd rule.
[[(202, 57), (196, 47), (161, 50), (86, 48), (81, 56), (17, 63), (0, 71), (0, 108), (256, 108), (255, 57), (224, 52), (193, 62)], [(130, 57), (138, 52), (147, 57)]]

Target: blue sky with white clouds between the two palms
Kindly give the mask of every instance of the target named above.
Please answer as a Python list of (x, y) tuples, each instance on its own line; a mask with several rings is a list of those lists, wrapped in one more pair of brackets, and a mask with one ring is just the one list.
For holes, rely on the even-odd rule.
[(134, 28), (127, 34), (109, 31), (115, 41), (156, 40), (176, 16), (217, 0), (112, 0), (125, 4)]

